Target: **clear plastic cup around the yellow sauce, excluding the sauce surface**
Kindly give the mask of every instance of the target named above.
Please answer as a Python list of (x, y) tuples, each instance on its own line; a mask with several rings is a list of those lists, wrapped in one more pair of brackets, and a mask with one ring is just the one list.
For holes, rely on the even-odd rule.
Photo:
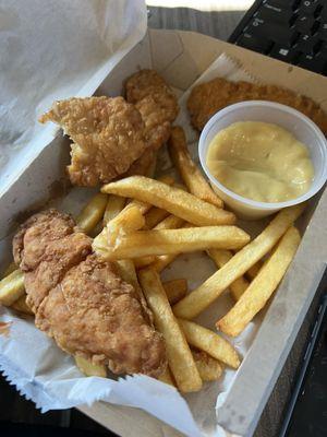
[[(314, 166), (314, 180), (310, 190), (299, 198), (286, 202), (268, 203), (246, 199), (219, 182), (207, 167), (207, 150), (211, 140), (220, 130), (237, 121), (263, 121), (278, 125), (304, 143), (308, 149)], [(272, 102), (249, 101), (219, 110), (209, 119), (201, 133), (198, 155), (213, 189), (242, 218), (261, 218), (282, 208), (302, 203), (316, 194), (327, 179), (327, 141), (320, 129), (302, 113)]]

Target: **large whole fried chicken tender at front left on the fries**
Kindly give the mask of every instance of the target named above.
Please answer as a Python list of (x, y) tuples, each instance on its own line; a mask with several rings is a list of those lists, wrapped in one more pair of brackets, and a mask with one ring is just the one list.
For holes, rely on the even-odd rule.
[(35, 324), (73, 355), (116, 374), (157, 377), (166, 368), (162, 335), (145, 300), (116, 264), (92, 253), (92, 239), (56, 210), (31, 217), (13, 240)]

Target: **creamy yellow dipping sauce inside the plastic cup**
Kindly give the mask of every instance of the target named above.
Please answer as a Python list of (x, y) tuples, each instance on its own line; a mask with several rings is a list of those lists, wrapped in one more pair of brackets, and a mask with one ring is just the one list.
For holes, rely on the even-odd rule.
[(283, 202), (308, 191), (314, 167), (306, 146), (286, 129), (239, 121), (213, 139), (207, 166), (225, 187), (259, 202)]

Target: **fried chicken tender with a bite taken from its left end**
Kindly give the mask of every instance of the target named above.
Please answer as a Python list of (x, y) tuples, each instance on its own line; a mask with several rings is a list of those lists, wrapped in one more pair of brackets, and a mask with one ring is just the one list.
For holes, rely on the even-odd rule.
[(146, 150), (142, 116), (123, 97), (57, 102), (39, 120), (58, 123), (72, 139), (68, 172), (73, 185), (109, 182)]

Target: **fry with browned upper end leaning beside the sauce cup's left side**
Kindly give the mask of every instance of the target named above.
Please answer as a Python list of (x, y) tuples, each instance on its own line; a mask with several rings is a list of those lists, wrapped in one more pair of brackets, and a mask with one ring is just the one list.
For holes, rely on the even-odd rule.
[(178, 168), (189, 191), (206, 202), (222, 208), (222, 200), (215, 193), (199, 168), (193, 162), (187, 150), (184, 131), (181, 127), (175, 126), (171, 129), (171, 137), (168, 144), (171, 161)]

